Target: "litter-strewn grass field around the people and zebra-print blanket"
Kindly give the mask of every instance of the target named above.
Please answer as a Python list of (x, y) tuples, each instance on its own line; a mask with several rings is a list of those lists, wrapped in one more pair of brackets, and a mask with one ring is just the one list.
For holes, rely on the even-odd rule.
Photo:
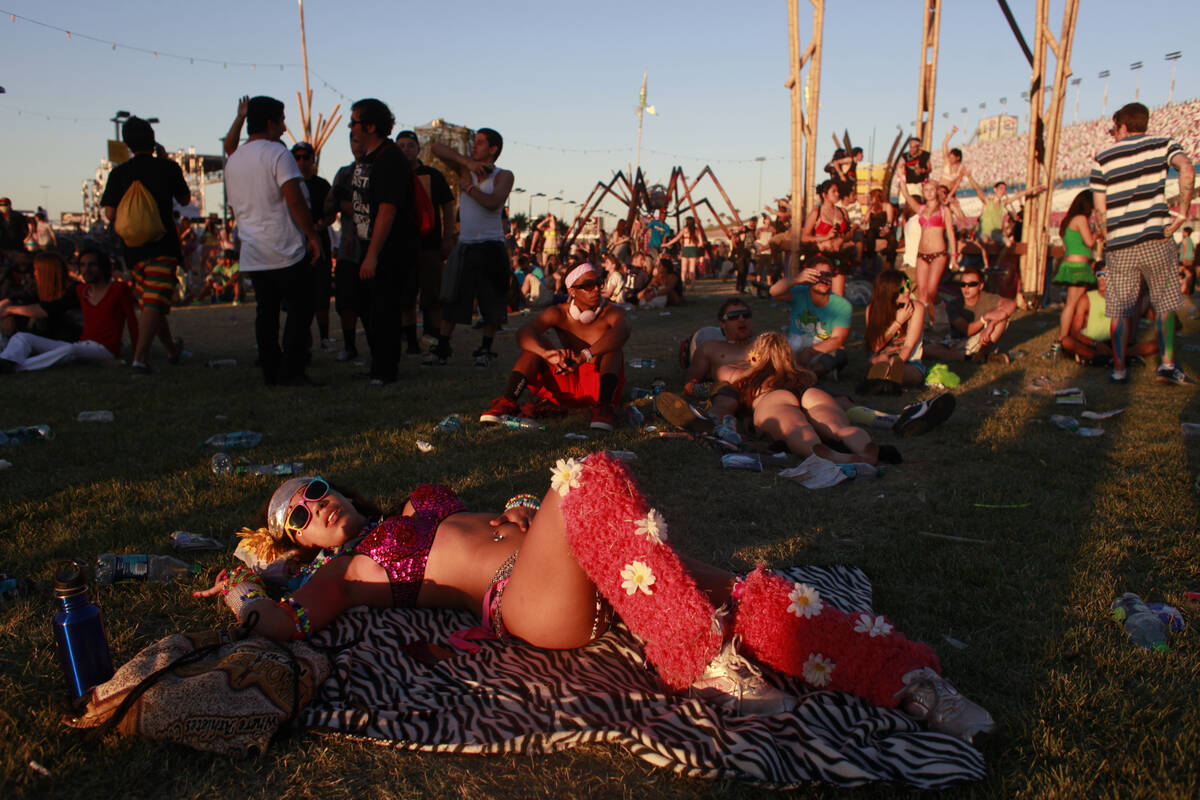
[[(630, 386), (654, 377), (682, 385), (678, 341), (710, 324), (728, 287), (704, 283), (670, 315), (642, 312), (628, 357)], [(780, 306), (751, 300), (756, 330), (785, 323)], [(1187, 315), (1187, 314), (1184, 314)], [(552, 421), (526, 433), (473, 422), (503, 386), (511, 331), (488, 369), (470, 366), (476, 333), (460, 331), (451, 366), (401, 367), (400, 383), (372, 389), (362, 367), (316, 353), (311, 373), (325, 389), (266, 389), (253, 362), (253, 308), (178, 309), (176, 333), (193, 356), (179, 367), (131, 378), (126, 367), (72, 366), (0, 379), (0, 427), (49, 423), (56, 437), (0, 450), (0, 571), (29, 576), (36, 596), (0, 607), (0, 796), (320, 796), (320, 798), (757, 798), (755, 787), (677, 778), (616, 747), (550, 757), (452, 757), (394, 751), (326, 734), (277, 742), (262, 758), (228, 759), (144, 740), (85, 741), (60, 724), (61, 675), (49, 595), (54, 559), (97, 553), (169, 552), (173, 530), (233, 540), (275, 482), (209, 469), (200, 443), (224, 431), (265, 434), (256, 463), (302, 461), (323, 475), (392, 500), (420, 481), (445, 482), (470, 507), (499, 509), (516, 492), (545, 491), (554, 458), (594, 447), (637, 452), (632, 470), (671, 521), (672, 542), (728, 567), (756, 563), (848, 563), (875, 585), (875, 606), (910, 637), (937, 650), (946, 673), (991, 710), (997, 734), (982, 744), (989, 777), (947, 793), (964, 798), (1194, 798), (1200, 795), (1200, 655), (1189, 627), (1166, 655), (1135, 650), (1108, 615), (1111, 600), (1136, 591), (1177, 606), (1195, 621), (1200, 604), (1198, 493), (1200, 421), (1194, 389), (1164, 387), (1152, 368), (1128, 386), (1103, 371), (1040, 357), (1057, 314), (1019, 319), (1010, 366), (959, 367), (959, 407), (929, 435), (895, 441), (905, 462), (872, 482), (820, 492), (773, 473), (722, 470), (692, 443), (638, 428), (587, 431), (587, 419)], [(515, 317), (512, 326), (522, 321)], [(1195, 375), (1195, 320), (1178, 339)], [(336, 325), (335, 325), (336, 327)], [(856, 321), (860, 332), (862, 320)], [(365, 347), (360, 347), (365, 350)], [(852, 391), (865, 356), (852, 347)], [(239, 366), (208, 368), (212, 357)], [(1028, 389), (1079, 386), (1086, 408), (1123, 408), (1086, 439), (1050, 427), (1056, 407)], [(912, 399), (886, 398), (896, 410)], [(110, 409), (113, 423), (82, 423), (83, 410)], [(451, 411), (470, 422), (454, 435), (436, 422)], [(569, 431), (587, 441), (564, 439)], [(420, 453), (418, 439), (434, 450)], [(890, 433), (877, 435), (892, 441)], [(998, 507), (997, 507), (998, 506)], [(929, 534), (935, 534), (930, 536)], [(229, 622), (223, 604), (198, 602), (228, 555), (197, 559), (194, 585), (124, 585), (95, 594), (106, 613), (114, 661), (179, 630)], [(965, 646), (948, 642), (953, 639)], [(29, 769), (44, 765), (49, 777)], [(856, 792), (892, 796), (895, 787)], [(799, 794), (799, 793), (797, 793)], [(806, 796), (842, 794), (824, 787)]]

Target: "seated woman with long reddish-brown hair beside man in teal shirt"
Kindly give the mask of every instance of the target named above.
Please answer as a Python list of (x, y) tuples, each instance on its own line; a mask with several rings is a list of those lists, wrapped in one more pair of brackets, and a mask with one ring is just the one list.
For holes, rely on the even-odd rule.
[(900, 270), (883, 270), (875, 278), (866, 307), (866, 351), (871, 363), (887, 363), (888, 378), (905, 386), (925, 383), (922, 335), (925, 306), (912, 296), (908, 278)]

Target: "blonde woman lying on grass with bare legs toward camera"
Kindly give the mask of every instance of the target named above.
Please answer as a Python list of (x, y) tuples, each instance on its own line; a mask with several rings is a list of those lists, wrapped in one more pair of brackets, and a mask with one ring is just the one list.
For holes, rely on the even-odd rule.
[[(850, 423), (838, 401), (816, 387), (816, 375), (797, 366), (782, 335), (758, 336), (746, 362), (732, 380), (733, 390), (740, 407), (754, 410), (755, 428), (772, 441), (782, 441), (798, 456), (816, 455), (836, 463), (900, 461), (895, 447), (881, 447), (871, 434)], [(829, 444), (850, 452), (835, 451)]]

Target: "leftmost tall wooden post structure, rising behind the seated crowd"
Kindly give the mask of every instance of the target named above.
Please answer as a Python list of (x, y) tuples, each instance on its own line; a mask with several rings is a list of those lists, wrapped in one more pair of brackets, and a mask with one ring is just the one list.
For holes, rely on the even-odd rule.
[[(800, 229), (812, 207), (812, 181), (817, 166), (817, 108), (821, 95), (821, 37), (824, 30), (824, 0), (812, 4), (812, 40), (800, 50), (800, 11), (798, 0), (787, 2), (787, 32), (791, 71), (784, 84), (792, 92), (792, 228), (788, 275), (796, 266), (800, 248)], [(808, 79), (800, 72), (809, 62)], [(757, 212), (756, 212), (757, 213)]]

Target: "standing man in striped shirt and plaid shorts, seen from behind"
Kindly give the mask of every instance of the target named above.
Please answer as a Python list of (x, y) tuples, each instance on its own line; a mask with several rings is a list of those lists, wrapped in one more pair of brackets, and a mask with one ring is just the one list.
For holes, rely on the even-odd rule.
[[(1180, 290), (1178, 253), (1171, 236), (1192, 206), (1195, 173), (1182, 145), (1168, 137), (1146, 134), (1150, 109), (1128, 103), (1112, 115), (1116, 144), (1096, 155), (1091, 188), (1098, 224), (1104, 225), (1108, 265), (1108, 308), (1111, 320), (1112, 373), (1109, 381), (1129, 383), (1126, 371), (1127, 331), (1141, 282), (1150, 288), (1158, 332), (1160, 384), (1195, 384), (1175, 363), (1175, 312), (1187, 305)], [(1166, 204), (1166, 173), (1180, 173), (1178, 210)], [(1172, 221), (1174, 215), (1174, 221)]]

